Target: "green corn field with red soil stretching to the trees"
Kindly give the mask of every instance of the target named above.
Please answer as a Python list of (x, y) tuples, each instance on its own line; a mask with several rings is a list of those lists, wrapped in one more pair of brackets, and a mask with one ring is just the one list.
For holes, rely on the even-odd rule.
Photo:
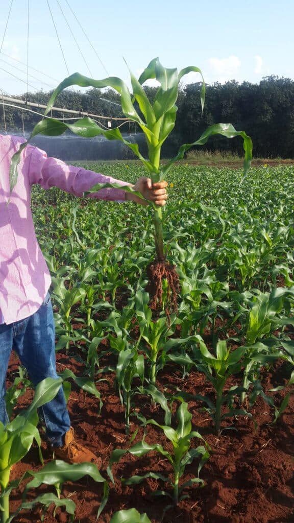
[[(142, 173), (133, 162), (82, 166), (130, 182)], [(100, 523), (131, 508), (149, 518), (135, 523), (294, 520), (294, 167), (242, 175), (184, 163), (169, 171), (164, 242), (180, 280), (170, 315), (148, 306), (151, 209), (33, 188), (58, 372), (77, 439), (103, 462), (104, 483), (62, 485), (74, 521), (94, 523), (108, 488)], [(13, 417), (32, 398), (16, 356), (7, 387)], [(49, 464), (44, 442), (42, 454)], [(32, 446), (12, 479), (41, 467)], [(23, 491), (12, 491), (12, 511)], [(41, 484), (27, 501), (48, 492)], [(14, 521), (41, 520), (70, 515), (40, 505)]]

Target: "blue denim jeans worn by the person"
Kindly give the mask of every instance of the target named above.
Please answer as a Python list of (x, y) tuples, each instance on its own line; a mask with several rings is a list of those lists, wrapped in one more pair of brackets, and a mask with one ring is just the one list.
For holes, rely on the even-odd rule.
[[(14, 349), (34, 385), (44, 378), (58, 378), (55, 363), (55, 325), (48, 293), (39, 310), (15, 323), (0, 325), (0, 421), (6, 425), (5, 378), (10, 354)], [(46, 426), (46, 438), (53, 446), (63, 445), (63, 436), (71, 426), (63, 389), (39, 410)]]

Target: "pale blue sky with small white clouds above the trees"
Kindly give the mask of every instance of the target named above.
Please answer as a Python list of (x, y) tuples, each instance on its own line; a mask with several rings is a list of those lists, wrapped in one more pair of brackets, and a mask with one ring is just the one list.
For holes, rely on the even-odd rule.
[[(0, 47), (11, 0), (1, 1)], [(58, 1), (86, 57), (94, 78), (107, 76), (74, 19), (66, 0), (48, 0), (70, 74), (89, 75), (76, 48)], [(127, 81), (130, 69), (139, 75), (155, 56), (163, 65), (196, 65), (207, 83), (236, 79), (258, 83), (275, 74), (294, 79), (294, 2), (280, 0), (67, 0), (111, 75)], [(29, 90), (53, 88), (67, 76), (47, 0), (30, 0)], [(26, 92), (27, 0), (14, 0), (0, 54), (0, 89), (9, 94)], [(13, 67), (14, 66), (14, 67)], [(17, 67), (18, 69), (15, 69)], [(21, 69), (23, 72), (20, 72)], [(16, 79), (4, 70), (21, 78)], [(198, 77), (191, 74), (187, 82)], [(46, 85), (46, 84), (49, 84)]]

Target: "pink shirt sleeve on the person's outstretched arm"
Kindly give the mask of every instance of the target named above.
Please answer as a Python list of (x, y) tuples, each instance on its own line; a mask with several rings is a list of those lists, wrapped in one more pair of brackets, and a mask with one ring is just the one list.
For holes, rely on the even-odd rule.
[[(38, 149), (38, 147), (31, 146), (30, 149), (32, 150), (29, 167), (30, 185), (38, 184), (43, 189), (59, 187), (78, 197), (83, 196), (84, 192), (92, 189), (96, 184), (131, 185), (111, 176), (94, 173), (92, 170), (67, 165), (57, 158), (48, 158), (46, 152)], [(91, 193), (89, 197), (100, 200), (123, 201), (126, 199), (126, 191), (107, 187)]]

